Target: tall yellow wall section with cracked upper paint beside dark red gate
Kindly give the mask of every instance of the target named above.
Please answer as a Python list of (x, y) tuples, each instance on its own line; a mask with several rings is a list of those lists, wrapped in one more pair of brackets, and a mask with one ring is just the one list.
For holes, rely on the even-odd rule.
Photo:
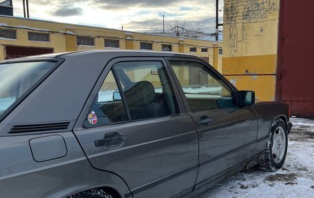
[(279, 0), (224, 0), (222, 74), (259, 101), (275, 101)]

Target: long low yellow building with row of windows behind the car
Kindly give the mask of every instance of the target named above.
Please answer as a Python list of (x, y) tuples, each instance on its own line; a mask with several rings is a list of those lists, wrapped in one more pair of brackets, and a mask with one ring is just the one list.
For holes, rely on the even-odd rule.
[(190, 53), (202, 57), (221, 72), (221, 45), (200, 39), (0, 17), (0, 60), (47, 52), (119, 48)]

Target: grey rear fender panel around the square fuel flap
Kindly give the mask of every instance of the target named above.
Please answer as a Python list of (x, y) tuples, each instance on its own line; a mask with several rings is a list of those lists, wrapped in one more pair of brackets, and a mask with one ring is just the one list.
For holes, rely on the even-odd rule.
[[(31, 139), (62, 137), (67, 155), (58, 159), (35, 161)], [(43, 148), (44, 149), (44, 148)], [(110, 172), (92, 168), (72, 132), (0, 137), (0, 197), (66, 197), (98, 186), (112, 186), (127, 194), (124, 181)]]

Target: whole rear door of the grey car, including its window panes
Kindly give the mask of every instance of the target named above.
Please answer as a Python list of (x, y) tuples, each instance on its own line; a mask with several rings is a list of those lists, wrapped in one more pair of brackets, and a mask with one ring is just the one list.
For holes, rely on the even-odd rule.
[(172, 84), (163, 58), (114, 59), (76, 123), (90, 163), (122, 177), (131, 190), (125, 197), (173, 197), (193, 189), (197, 132)]

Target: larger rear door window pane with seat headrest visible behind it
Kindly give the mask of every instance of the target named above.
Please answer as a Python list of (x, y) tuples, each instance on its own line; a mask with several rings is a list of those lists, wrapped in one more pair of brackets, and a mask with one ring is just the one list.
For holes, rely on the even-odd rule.
[(114, 69), (132, 120), (178, 113), (174, 91), (162, 62), (121, 62), (116, 63)]

